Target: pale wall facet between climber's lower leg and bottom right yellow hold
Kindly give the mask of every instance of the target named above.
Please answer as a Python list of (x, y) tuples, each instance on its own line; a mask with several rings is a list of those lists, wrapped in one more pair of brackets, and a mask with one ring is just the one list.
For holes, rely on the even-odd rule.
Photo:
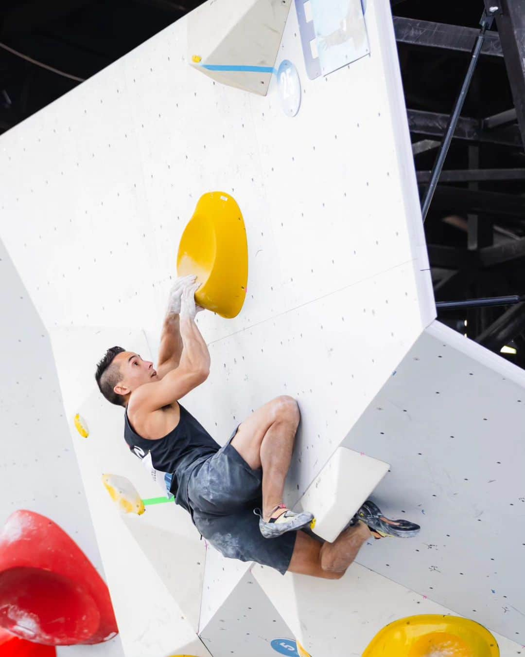
[[(373, 553), (377, 547), (367, 544), (363, 550)], [(270, 597), (292, 636), (312, 657), (362, 657), (377, 632), (406, 616), (461, 615), (357, 563), (348, 568), (343, 579), (329, 585), (301, 576), (282, 578), (259, 564), (253, 567), (252, 576)], [(500, 657), (523, 654), (520, 643), (493, 633)], [(261, 650), (259, 656), (274, 657), (275, 652)]]

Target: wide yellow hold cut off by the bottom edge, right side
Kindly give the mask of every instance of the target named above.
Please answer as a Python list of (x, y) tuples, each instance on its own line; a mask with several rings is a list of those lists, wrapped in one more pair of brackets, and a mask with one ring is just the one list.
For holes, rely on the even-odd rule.
[(494, 636), (457, 616), (422, 614), (396, 620), (375, 635), (363, 657), (499, 657)]

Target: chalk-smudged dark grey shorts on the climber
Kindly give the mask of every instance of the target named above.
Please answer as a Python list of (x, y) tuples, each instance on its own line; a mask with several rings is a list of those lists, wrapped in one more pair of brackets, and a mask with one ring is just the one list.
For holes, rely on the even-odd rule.
[(263, 470), (253, 470), (230, 439), (190, 475), (188, 501), (194, 523), (205, 539), (232, 559), (288, 569), (297, 532), (266, 539), (253, 509), (263, 507)]

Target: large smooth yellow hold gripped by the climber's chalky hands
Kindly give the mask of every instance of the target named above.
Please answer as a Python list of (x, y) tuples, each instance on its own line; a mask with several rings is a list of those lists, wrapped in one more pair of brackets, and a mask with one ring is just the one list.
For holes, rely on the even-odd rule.
[(182, 233), (177, 275), (194, 274), (201, 283), (196, 302), (221, 317), (236, 317), (248, 283), (246, 228), (236, 200), (224, 192), (199, 199)]

